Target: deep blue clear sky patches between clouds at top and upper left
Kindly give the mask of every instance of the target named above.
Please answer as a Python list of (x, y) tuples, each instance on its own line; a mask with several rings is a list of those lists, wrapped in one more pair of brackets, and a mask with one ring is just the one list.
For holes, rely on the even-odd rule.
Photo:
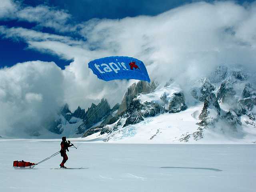
[[(92, 18), (125, 18), (138, 15), (154, 16), (165, 12), (171, 8), (189, 3), (195, 0), (23, 0), (20, 1), (22, 7), (46, 5), (56, 9), (65, 10), (72, 17), (70, 23), (88, 21)], [(35, 22), (19, 21), (15, 19), (0, 20), (1, 26), (22, 27), (35, 29), (42, 32), (58, 34), (51, 28), (37, 27)], [(77, 34), (72, 34), (74, 38), (80, 38)], [(0, 34), (0, 68), (13, 66), (18, 62), (31, 60), (53, 61), (62, 69), (70, 64), (72, 60), (60, 59), (52, 54), (45, 54), (36, 50), (27, 49), (27, 43), (11, 38), (3, 38)]]

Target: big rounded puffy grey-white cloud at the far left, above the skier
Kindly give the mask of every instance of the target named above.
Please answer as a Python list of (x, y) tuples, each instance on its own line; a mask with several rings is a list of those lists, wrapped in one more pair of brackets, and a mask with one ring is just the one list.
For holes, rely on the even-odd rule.
[(45, 129), (64, 100), (64, 76), (54, 62), (0, 70), (0, 135), (25, 137)]

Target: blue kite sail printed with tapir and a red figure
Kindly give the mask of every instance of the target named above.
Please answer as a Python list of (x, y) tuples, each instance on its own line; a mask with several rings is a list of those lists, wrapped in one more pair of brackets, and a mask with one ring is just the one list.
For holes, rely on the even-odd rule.
[(144, 63), (138, 59), (124, 56), (105, 57), (88, 63), (99, 79), (138, 79), (150, 82)]

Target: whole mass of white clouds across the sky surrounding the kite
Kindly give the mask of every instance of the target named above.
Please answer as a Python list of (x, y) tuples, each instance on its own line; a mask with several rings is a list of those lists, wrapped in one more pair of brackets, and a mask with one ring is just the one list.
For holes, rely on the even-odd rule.
[[(38, 8), (31, 9), (25, 8), (23, 12), (30, 10), (32, 15), (37, 13)], [(52, 8), (48, 11), (50, 16), (55, 11), (62, 20), (52, 16), (54, 25), (47, 24), (48, 27), (56, 29), (70, 18), (61, 10), (62, 13)], [(17, 15), (20, 19), (33, 21)], [(40, 19), (36, 22), (43, 25)], [(30, 116), (39, 116), (36, 124), (43, 125), (47, 118), (44, 114), (54, 111), (60, 100), (68, 102), (72, 110), (78, 105), (86, 108), (103, 97), (112, 105), (120, 102), (132, 81), (98, 80), (87, 66), (95, 58), (132, 56), (144, 61), (151, 80), (164, 82), (173, 78), (182, 85), (188, 80), (207, 76), (220, 64), (241, 65), (256, 72), (256, 3), (245, 7), (234, 2), (198, 2), (158, 16), (92, 19), (69, 25), (65, 30), (68, 29), (77, 29), (82, 40), (24, 28), (0, 28), (0, 33), (6, 38), (22, 39), (28, 43), (28, 48), (74, 59), (65, 70), (60, 70), (53, 63), (39, 61), (0, 70), (0, 102), (5, 106), (4, 110), (0, 110), (0, 118), (6, 122), (6, 128), (29, 129), (32, 124), (26, 122), (26, 118)], [(46, 83), (39, 84), (26, 73), (21, 74), (23, 68), (30, 71), (31, 65), (34, 66), (32, 71), (36, 71), (41, 80), (47, 80)], [(10, 78), (9, 73), (15, 75)], [(56, 80), (58, 86), (53, 83)], [(30, 90), (31, 87), (38, 90)], [(7, 112), (5, 109), (8, 109)], [(17, 113), (22, 113), (22, 118), (18, 118)]]

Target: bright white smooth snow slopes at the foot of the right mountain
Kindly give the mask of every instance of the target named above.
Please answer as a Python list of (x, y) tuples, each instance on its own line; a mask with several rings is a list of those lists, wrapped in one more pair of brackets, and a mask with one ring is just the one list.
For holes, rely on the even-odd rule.
[[(188, 134), (193, 134), (199, 127), (196, 123), (200, 122), (198, 116), (203, 108), (203, 104), (188, 108), (179, 113), (159, 114), (155, 117), (144, 118), (144, 121), (119, 128), (111, 134), (100, 135), (100, 132), (81, 138), (80, 140), (90, 142), (102, 142), (110, 137), (108, 142), (112, 143), (141, 143), (141, 144), (182, 144), (180, 138)], [(246, 117), (244, 117), (246, 118)], [(245, 120), (245, 119), (244, 119)], [(244, 122), (243, 120), (243, 122)], [(109, 125), (113, 127), (116, 123)], [(243, 123), (243, 134), (241, 138), (225, 134), (223, 130), (204, 131), (204, 138), (200, 140), (189, 139), (190, 144), (249, 144), (256, 141), (256, 129)], [(224, 127), (225, 129), (225, 127)], [(226, 131), (228, 133), (228, 130)]]

